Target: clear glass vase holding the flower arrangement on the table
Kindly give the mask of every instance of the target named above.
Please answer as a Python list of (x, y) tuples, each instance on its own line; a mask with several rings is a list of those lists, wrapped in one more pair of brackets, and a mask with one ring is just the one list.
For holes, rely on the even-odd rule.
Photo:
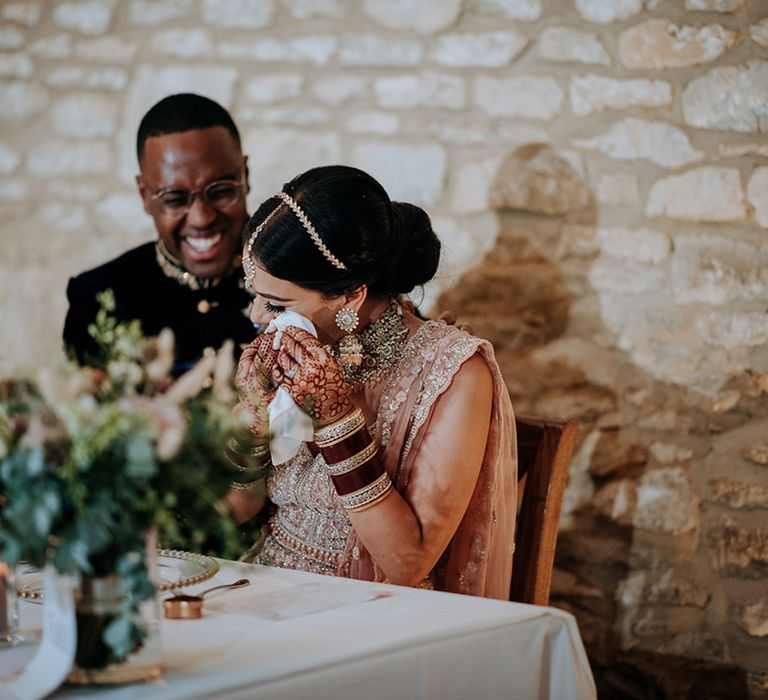
[[(150, 580), (156, 580), (157, 556), (154, 538), (147, 543), (147, 569)], [(81, 574), (75, 590), (77, 619), (77, 652), (67, 678), (74, 684), (116, 684), (151, 681), (162, 675), (160, 637), (160, 603), (157, 593), (142, 601), (138, 610), (128, 615), (131, 650), (120, 661), (112, 660), (111, 648), (104, 634), (111, 623), (123, 614), (125, 586), (117, 575), (87, 576)]]

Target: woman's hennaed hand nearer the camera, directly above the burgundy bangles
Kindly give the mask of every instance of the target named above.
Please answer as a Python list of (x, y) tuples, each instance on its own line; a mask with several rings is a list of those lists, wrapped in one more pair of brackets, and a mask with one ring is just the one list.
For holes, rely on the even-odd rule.
[(272, 376), (321, 425), (352, 409), (341, 366), (317, 338), (301, 328), (288, 326), (283, 332)]

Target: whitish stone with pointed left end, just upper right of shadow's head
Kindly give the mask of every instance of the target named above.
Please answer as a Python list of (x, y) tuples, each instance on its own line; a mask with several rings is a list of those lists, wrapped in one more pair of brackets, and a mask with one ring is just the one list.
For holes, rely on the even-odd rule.
[(599, 136), (577, 139), (573, 144), (616, 160), (649, 160), (665, 168), (679, 168), (704, 157), (691, 146), (682, 129), (634, 117), (622, 119)]

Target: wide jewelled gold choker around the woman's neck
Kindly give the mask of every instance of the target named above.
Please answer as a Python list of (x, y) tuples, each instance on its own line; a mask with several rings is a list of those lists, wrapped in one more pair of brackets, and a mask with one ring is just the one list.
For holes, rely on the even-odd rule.
[[(357, 334), (363, 346), (363, 361), (359, 365), (342, 365), (344, 378), (352, 391), (381, 381), (402, 357), (407, 336), (403, 309), (396, 299), (391, 299), (387, 310)], [(336, 358), (339, 357), (339, 342), (326, 346)]]

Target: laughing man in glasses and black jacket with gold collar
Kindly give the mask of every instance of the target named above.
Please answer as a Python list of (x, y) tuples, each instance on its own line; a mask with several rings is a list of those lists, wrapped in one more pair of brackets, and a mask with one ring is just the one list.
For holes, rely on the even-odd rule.
[(119, 322), (138, 319), (147, 336), (173, 330), (178, 375), (206, 348), (227, 339), (239, 348), (255, 335), (240, 270), (247, 157), (230, 114), (188, 93), (166, 97), (144, 115), (136, 151), (136, 184), (157, 239), (70, 279), (64, 344), (82, 363), (103, 362), (88, 327), (96, 295), (111, 288)]

